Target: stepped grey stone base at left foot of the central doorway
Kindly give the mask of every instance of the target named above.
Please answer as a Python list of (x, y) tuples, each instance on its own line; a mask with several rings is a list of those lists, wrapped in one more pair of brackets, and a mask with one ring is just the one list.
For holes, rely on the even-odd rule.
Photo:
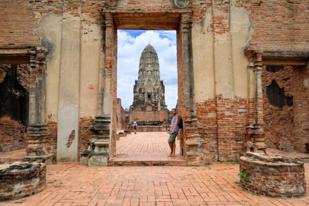
[(110, 145), (110, 116), (96, 116), (89, 126), (95, 134), (87, 142), (88, 148), (80, 154), (80, 164), (91, 166), (107, 166)]

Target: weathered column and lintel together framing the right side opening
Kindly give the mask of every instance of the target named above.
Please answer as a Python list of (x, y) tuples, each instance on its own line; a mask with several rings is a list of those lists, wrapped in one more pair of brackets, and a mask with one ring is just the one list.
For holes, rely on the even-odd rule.
[(248, 127), (244, 140), (245, 152), (265, 153), (265, 131), (263, 116), (262, 66), (305, 66), (308, 65), (309, 53), (262, 51), (246, 48), (249, 59), (249, 111)]

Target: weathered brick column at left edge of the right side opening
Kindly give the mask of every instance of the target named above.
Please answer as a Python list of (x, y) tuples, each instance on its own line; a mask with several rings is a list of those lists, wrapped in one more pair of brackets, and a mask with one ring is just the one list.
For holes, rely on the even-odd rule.
[[(250, 93), (254, 94), (254, 101), (251, 101), (249, 94), (249, 118), (246, 128), (244, 148), (246, 152), (265, 153), (265, 132), (263, 129), (263, 94), (262, 94), (262, 51), (245, 50), (249, 58)], [(253, 75), (252, 75), (253, 72)], [(254, 83), (252, 82), (254, 81)], [(253, 87), (253, 88), (251, 88)], [(253, 114), (253, 115), (252, 115)]]

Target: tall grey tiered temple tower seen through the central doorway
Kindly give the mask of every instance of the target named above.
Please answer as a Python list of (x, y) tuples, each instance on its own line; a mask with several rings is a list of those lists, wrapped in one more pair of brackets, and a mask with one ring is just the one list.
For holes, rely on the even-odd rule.
[(163, 125), (168, 121), (165, 87), (160, 80), (160, 65), (156, 50), (148, 44), (141, 53), (138, 80), (133, 89), (133, 104), (126, 112), (126, 124)]

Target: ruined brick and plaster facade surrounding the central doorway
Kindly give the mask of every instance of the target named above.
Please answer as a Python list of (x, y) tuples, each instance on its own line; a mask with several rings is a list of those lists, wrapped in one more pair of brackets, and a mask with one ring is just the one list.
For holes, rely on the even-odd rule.
[(1, 151), (107, 165), (116, 153), (117, 30), (129, 29), (176, 31), (188, 165), (266, 146), (307, 153), (308, 8), (305, 0), (2, 0)]

